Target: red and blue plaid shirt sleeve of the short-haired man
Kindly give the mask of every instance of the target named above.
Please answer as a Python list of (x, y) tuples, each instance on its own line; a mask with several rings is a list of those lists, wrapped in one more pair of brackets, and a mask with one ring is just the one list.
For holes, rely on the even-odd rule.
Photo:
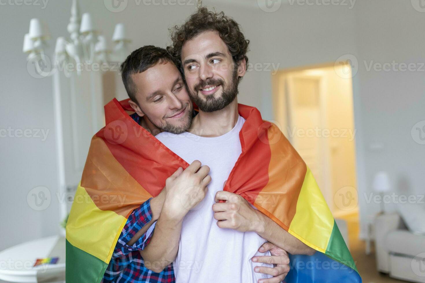
[(133, 238), (133, 236), (140, 230), (144, 225), (152, 220), (152, 210), (150, 208), (150, 200), (148, 199), (128, 216), (127, 222), (119, 235), (116, 243), (114, 252), (112, 254), (111, 262), (106, 269), (103, 281), (113, 281), (114, 277), (120, 275), (129, 264), (132, 263), (134, 253), (143, 250), (149, 243), (152, 237), (152, 229), (145, 232), (132, 246), (127, 245), (127, 242)]

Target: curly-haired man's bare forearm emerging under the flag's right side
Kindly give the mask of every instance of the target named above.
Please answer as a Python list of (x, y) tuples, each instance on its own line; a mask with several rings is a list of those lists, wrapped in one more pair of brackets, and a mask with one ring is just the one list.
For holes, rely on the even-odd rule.
[(255, 210), (255, 213), (257, 221), (254, 222), (253, 230), (267, 241), (293, 255), (313, 255), (316, 252), (260, 211)]

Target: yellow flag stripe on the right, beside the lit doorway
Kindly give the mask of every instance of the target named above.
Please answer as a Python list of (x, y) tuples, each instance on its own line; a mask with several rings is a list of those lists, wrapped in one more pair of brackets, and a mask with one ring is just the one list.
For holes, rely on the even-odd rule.
[[(314, 180), (310, 168), (298, 196), (297, 210), (289, 226), (289, 233), (319, 252), (326, 252), (334, 227), (334, 218)], [(313, 246), (312, 246), (313, 245)]]

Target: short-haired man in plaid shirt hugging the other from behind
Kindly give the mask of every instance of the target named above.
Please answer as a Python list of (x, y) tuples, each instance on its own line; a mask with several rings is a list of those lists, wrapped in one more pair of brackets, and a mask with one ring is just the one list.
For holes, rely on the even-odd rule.
[[(135, 113), (131, 118), (153, 135), (162, 131), (181, 133), (191, 124), (193, 103), (190, 101), (183, 77), (176, 67), (171, 54), (164, 48), (146, 45), (134, 50), (121, 65), (122, 81), (130, 98), (129, 104)], [(173, 264), (163, 270), (150, 262), (144, 262), (143, 249), (149, 244), (146, 231), (159, 217), (162, 207), (175, 204), (179, 191), (191, 194), (191, 189), (202, 191), (202, 186), (193, 182), (208, 179), (208, 169), (196, 160), (184, 171), (179, 168), (166, 182), (165, 188), (158, 196), (148, 199), (132, 211), (119, 235), (111, 261), (105, 271), (102, 282), (175, 282)], [(180, 174), (178, 177), (177, 175)], [(201, 178), (199, 178), (201, 177)], [(204, 180), (203, 179), (203, 180)], [(191, 182), (191, 180), (193, 182)], [(202, 180), (202, 181), (203, 181)], [(167, 193), (167, 197), (165, 196)], [(198, 199), (201, 197), (198, 196)], [(203, 197), (202, 197), (203, 199)], [(179, 205), (179, 203), (177, 203)], [(192, 202), (187, 209), (195, 207)], [(176, 210), (176, 212), (178, 209)], [(158, 231), (158, 230), (157, 230)], [(157, 232), (161, 233), (160, 231)], [(253, 247), (257, 249), (258, 247)], [(273, 269), (262, 270), (273, 274), (276, 282), (283, 279), (288, 266), (288, 255), (271, 243), (264, 243), (263, 251), (270, 251), (272, 256), (264, 256), (259, 261), (276, 263)], [(195, 268), (197, 266), (194, 266)], [(156, 271), (156, 272), (155, 272)]]

